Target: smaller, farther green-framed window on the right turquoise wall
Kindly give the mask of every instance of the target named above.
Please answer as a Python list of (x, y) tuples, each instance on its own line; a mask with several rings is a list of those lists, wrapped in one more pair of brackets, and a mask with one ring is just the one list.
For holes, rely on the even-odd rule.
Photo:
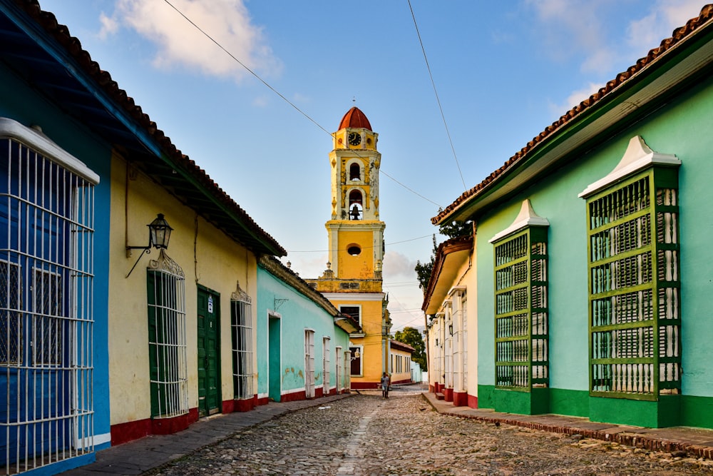
[(527, 226), (493, 241), (496, 388), (549, 386), (547, 233)]

